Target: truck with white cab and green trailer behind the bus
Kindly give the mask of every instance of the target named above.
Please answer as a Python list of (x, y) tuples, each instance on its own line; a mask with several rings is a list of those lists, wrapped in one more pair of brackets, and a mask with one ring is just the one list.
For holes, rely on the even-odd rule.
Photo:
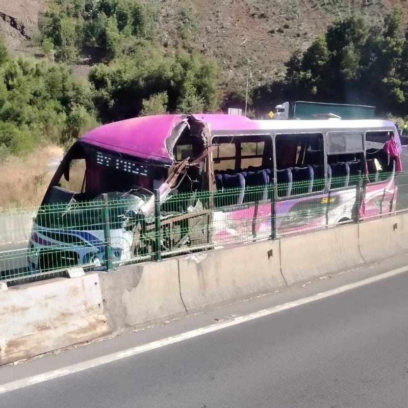
[(366, 105), (285, 102), (275, 107), (273, 119), (372, 119), (375, 107)]

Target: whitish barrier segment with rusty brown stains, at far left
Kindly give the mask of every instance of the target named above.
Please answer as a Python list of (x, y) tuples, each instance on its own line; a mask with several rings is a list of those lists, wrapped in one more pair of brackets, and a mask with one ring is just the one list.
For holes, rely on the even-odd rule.
[(96, 273), (0, 291), (0, 364), (109, 333)]

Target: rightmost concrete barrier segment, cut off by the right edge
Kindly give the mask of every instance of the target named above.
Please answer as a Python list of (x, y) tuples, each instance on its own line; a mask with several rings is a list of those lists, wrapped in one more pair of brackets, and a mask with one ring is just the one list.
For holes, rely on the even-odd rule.
[(366, 262), (408, 253), (408, 214), (359, 224), (360, 251)]

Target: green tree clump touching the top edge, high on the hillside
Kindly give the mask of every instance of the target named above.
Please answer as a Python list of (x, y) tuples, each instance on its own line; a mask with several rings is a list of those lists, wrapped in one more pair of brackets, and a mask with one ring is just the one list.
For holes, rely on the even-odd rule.
[(54, 44), (58, 61), (77, 60), (84, 44), (112, 60), (125, 39), (155, 37), (155, 18), (154, 8), (138, 0), (52, 0), (39, 19), (39, 29), (44, 52)]

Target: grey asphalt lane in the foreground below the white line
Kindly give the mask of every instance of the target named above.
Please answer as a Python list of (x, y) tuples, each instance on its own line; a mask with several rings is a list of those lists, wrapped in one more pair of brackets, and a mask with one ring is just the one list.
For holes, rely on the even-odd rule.
[[(403, 273), (7, 392), (0, 405), (406, 408), (407, 288), (408, 273)], [(76, 351), (86, 355), (86, 350)]]

